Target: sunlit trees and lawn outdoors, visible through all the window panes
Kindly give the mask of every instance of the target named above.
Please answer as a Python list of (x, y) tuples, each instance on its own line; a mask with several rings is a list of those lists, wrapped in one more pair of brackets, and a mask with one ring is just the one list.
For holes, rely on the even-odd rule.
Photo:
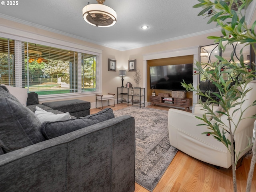
[[(0, 53), (0, 83), (13, 85), (14, 81), (14, 56), (8, 53)], [(29, 61), (29, 62), (28, 62)], [(32, 58), (24, 59), (25, 87), (29, 91), (38, 94), (63, 93), (70, 90), (70, 74), (74, 76), (77, 72), (73, 71), (77, 64), (65, 60), (54, 60), (44, 58), (37, 60)], [(72, 71), (70, 71), (70, 69)], [(75, 75), (74, 75), (75, 74)], [(90, 56), (82, 59), (81, 65), (82, 90), (92, 90), (96, 86), (96, 57)], [(77, 77), (75, 77), (77, 78)], [(28, 79), (28, 80), (27, 80)], [(77, 85), (72, 85), (76, 89)], [(47, 92), (46, 91), (50, 91)], [(57, 91), (57, 92), (56, 92)]]

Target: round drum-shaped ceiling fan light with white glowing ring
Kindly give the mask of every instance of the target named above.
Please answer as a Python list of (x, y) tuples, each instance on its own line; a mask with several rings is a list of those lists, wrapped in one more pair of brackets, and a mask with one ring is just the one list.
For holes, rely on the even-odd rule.
[(110, 27), (116, 24), (116, 12), (103, 5), (105, 0), (97, 0), (98, 4), (88, 4), (83, 8), (84, 20), (97, 27)]

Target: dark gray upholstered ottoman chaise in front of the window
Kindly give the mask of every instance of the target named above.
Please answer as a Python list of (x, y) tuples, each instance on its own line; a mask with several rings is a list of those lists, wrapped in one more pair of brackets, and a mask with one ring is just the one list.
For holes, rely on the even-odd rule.
[(86, 115), (90, 115), (91, 103), (88, 101), (72, 99), (64, 101), (44, 102), (42, 104), (64, 113), (69, 112), (70, 115), (75, 117), (85, 117)]

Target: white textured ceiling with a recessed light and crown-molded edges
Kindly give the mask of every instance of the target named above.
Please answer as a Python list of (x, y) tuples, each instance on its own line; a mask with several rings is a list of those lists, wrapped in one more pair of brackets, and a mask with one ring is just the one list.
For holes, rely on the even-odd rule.
[[(206, 24), (208, 19), (197, 16), (201, 8), (192, 6), (198, 0), (106, 0), (104, 5), (117, 13), (117, 23), (108, 28), (91, 26), (83, 20), (82, 8), (88, 2), (97, 3), (96, 0), (20, 0), (17, 6), (0, 6), (0, 17), (117, 50), (218, 30), (216, 24)], [(255, 11), (255, 6), (251, 7)], [(142, 25), (149, 28), (142, 30)]]

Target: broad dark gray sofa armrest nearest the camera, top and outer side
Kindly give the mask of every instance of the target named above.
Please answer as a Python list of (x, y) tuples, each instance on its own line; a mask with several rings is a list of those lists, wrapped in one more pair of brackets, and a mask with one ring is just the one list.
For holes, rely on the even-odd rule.
[(134, 191), (135, 122), (120, 116), (0, 156), (0, 191)]

